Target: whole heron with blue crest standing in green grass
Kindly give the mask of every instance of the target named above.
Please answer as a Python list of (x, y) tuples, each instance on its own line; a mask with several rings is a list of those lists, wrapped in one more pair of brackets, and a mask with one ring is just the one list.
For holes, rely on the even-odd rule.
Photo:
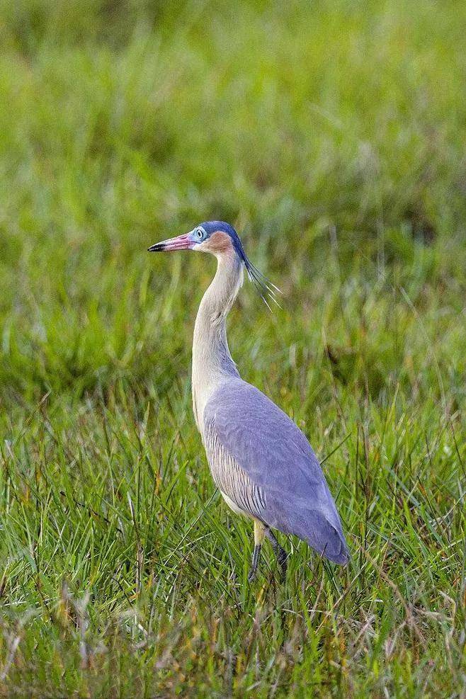
[(149, 247), (149, 252), (174, 250), (217, 258), (195, 319), (193, 411), (215, 484), (235, 513), (254, 521), (249, 581), (256, 577), (265, 537), (286, 572), (287, 554), (272, 530), (295, 534), (320, 555), (345, 564), (339, 514), (311, 445), (287, 414), (241, 379), (229, 353), (226, 318), (244, 268), (266, 303), (275, 300), (278, 289), (251, 263), (237, 232), (225, 222), (204, 222)]

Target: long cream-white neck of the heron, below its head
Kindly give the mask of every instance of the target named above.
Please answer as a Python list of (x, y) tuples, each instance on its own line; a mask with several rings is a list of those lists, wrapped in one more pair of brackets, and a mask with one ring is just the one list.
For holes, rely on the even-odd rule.
[(212, 391), (229, 376), (239, 376), (229, 353), (225, 320), (243, 283), (236, 254), (217, 256), (217, 272), (200, 302), (193, 338), (193, 411), (200, 433)]

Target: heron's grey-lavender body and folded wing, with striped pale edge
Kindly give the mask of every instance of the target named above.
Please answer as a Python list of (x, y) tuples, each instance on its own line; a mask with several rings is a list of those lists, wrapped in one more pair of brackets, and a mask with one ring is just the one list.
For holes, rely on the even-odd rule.
[(267, 525), (306, 540), (331, 561), (346, 563), (348, 550), (324, 474), (288, 415), (235, 377), (212, 394), (203, 420), (220, 489)]

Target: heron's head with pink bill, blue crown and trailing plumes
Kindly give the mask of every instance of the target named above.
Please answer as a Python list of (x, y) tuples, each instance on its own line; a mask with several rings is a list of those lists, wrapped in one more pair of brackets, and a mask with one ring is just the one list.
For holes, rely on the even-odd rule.
[(215, 255), (217, 259), (236, 259), (239, 264), (244, 264), (246, 267), (249, 279), (256, 286), (266, 305), (270, 308), (266, 297), (269, 297), (278, 305), (275, 299), (275, 291), (279, 291), (279, 289), (269, 282), (249, 260), (244, 252), (239, 235), (229, 223), (224, 221), (205, 221), (193, 228), (189, 233), (162, 240), (160, 243), (149, 247), (149, 252), (169, 252), (172, 250), (197, 250), (198, 252), (209, 252)]

